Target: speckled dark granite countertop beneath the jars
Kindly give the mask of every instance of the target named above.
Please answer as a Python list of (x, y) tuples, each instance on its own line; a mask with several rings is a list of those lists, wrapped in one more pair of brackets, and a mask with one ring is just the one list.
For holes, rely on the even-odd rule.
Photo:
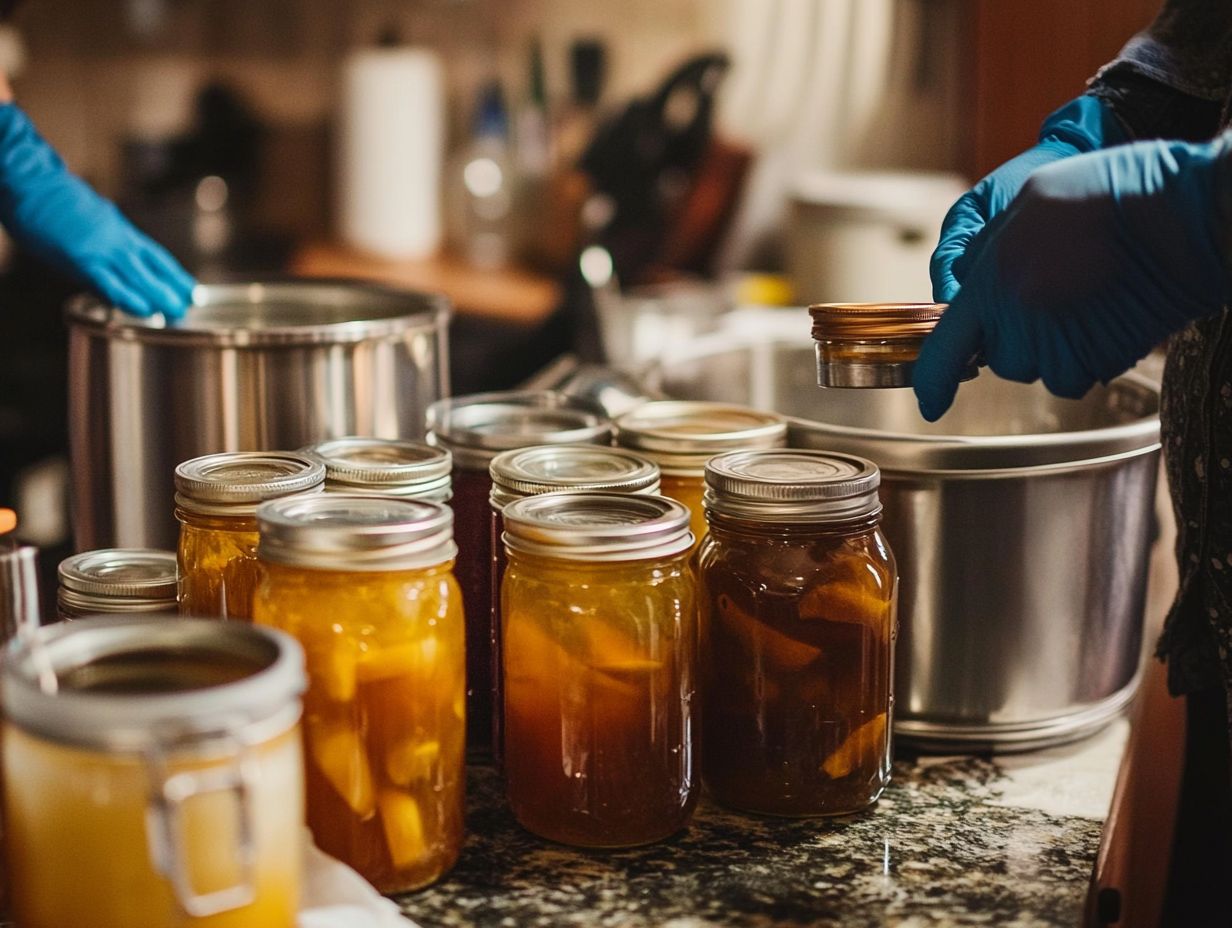
[(1127, 732), (1121, 720), (1031, 754), (899, 759), (881, 801), (844, 818), (703, 800), (674, 839), (604, 853), (524, 832), (496, 775), (473, 768), (457, 866), (399, 902), (423, 928), (1074, 928)]

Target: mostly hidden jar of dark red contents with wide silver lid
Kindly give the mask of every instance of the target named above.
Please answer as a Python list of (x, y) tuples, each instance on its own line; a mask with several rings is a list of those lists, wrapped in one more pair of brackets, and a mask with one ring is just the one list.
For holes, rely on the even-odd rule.
[(529, 445), (610, 445), (611, 423), (588, 401), (552, 392), (474, 393), (428, 409), (428, 442), (453, 454), (455, 573), (466, 604), (467, 751), (492, 757), (493, 640), (488, 467), (501, 451)]

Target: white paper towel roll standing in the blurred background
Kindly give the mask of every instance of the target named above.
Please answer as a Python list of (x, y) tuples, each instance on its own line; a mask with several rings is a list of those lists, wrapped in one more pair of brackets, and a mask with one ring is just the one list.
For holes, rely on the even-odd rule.
[(424, 258), (440, 245), (444, 95), (430, 51), (371, 48), (347, 59), (339, 133), (347, 244), (384, 258)]

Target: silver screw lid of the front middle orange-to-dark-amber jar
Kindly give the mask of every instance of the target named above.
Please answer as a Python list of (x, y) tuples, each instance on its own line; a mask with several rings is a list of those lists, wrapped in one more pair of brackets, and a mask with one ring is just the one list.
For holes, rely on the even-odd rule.
[(642, 561), (692, 547), (689, 508), (665, 497), (562, 490), (501, 514), (511, 551), (565, 561)]

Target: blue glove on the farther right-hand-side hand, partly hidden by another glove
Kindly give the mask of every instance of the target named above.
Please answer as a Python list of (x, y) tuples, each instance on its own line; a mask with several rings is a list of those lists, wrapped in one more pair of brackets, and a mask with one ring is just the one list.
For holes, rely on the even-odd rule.
[(1062, 158), (1122, 142), (1129, 142), (1125, 129), (1099, 97), (1080, 96), (1052, 113), (1040, 127), (1040, 143), (1035, 148), (1005, 161), (950, 207), (929, 267), (933, 298), (939, 303), (954, 299), (962, 285), (961, 276), (955, 276), (955, 261), (979, 230), (1018, 196), (1031, 171)]

